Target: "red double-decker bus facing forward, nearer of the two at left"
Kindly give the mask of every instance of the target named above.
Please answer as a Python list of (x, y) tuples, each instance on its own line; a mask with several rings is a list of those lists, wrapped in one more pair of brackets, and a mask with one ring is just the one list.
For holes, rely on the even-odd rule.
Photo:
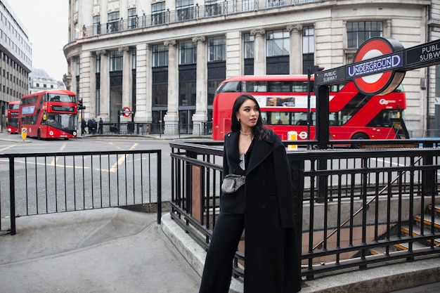
[(76, 138), (77, 113), (77, 98), (71, 91), (32, 93), (21, 98), (19, 129), (25, 127), (27, 136), (38, 139)]

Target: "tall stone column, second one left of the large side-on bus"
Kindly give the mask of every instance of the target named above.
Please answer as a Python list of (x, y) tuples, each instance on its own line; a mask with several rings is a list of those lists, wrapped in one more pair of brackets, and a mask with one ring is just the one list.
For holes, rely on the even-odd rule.
[(168, 46), (168, 110), (164, 116), (165, 134), (179, 134), (179, 59), (176, 40), (165, 41)]

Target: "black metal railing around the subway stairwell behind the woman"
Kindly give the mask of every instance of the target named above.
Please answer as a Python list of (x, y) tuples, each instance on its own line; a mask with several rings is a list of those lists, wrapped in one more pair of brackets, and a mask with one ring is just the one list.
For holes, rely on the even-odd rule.
[[(288, 151), (306, 278), (440, 252), (440, 230), (413, 219), (434, 219), (433, 209), (427, 208), (440, 201), (440, 141), (429, 141), (429, 148), (414, 140), (368, 143), (357, 150)], [(222, 143), (176, 141), (170, 146), (171, 216), (207, 249), (219, 214)], [(409, 235), (401, 232), (404, 226)], [(425, 246), (416, 249), (420, 243)], [(394, 247), (399, 245), (410, 248), (398, 251)], [(240, 251), (236, 256), (234, 272), (242, 276), (238, 260), (245, 256)]]

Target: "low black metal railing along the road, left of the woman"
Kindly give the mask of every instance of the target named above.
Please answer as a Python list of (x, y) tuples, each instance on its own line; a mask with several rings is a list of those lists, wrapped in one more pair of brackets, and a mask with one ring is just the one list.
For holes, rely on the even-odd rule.
[[(0, 230), (15, 218), (63, 211), (162, 205), (162, 151), (0, 154)], [(160, 212), (157, 223), (160, 223)]]

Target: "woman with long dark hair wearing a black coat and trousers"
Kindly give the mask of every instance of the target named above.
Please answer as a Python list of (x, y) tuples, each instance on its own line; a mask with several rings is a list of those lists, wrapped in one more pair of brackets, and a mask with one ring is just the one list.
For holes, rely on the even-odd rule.
[(233, 194), (222, 193), (200, 293), (227, 293), (233, 257), (245, 229), (245, 293), (301, 289), (292, 179), (285, 146), (264, 127), (257, 100), (242, 95), (224, 142), (224, 176), (245, 175)]

